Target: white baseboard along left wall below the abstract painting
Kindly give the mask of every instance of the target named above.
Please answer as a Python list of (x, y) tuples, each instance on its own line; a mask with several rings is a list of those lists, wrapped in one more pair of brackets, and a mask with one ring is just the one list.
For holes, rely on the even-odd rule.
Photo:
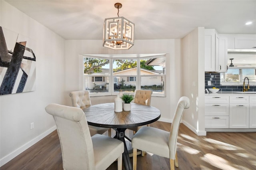
[(16, 156), (18, 156), (19, 154), (21, 154), (22, 152), (24, 152), (26, 149), (28, 149), (29, 147), (34, 145), (36, 142), (38, 142), (39, 140), (41, 140), (42, 138), (44, 138), (45, 136), (47, 136), (48, 134), (50, 134), (54, 130), (56, 130), (56, 125), (49, 128), (48, 130), (46, 130), (42, 134), (36, 136), (34, 139), (30, 140), (29, 142), (27, 142), (26, 144), (24, 144), (20, 148), (14, 150), (10, 154), (4, 156), (4, 158), (2, 158), (0, 160), (0, 167), (3, 166), (4, 164), (6, 164), (7, 162), (9, 162), (10, 160), (12, 160), (13, 158), (15, 158)]

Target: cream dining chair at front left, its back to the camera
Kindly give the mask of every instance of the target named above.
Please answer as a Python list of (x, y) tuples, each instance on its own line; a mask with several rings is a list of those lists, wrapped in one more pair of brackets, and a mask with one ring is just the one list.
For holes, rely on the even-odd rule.
[(124, 143), (102, 134), (90, 136), (82, 109), (49, 104), (45, 110), (56, 123), (64, 170), (105, 170), (116, 159), (122, 170)]

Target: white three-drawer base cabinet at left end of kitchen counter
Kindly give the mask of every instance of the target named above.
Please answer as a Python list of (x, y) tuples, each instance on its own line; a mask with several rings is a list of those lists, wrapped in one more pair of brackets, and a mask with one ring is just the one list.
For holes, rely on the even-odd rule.
[(229, 128), (228, 103), (228, 96), (205, 96), (205, 128)]

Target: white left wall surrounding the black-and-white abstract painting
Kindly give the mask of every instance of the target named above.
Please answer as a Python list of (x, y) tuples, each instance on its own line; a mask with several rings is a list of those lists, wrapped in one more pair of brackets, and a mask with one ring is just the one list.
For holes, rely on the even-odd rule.
[[(65, 41), (5, 1), (0, 1), (0, 26), (35, 42), (36, 91), (0, 96), (0, 166), (55, 129), (44, 108), (64, 104)], [(30, 123), (34, 129), (30, 130)]]

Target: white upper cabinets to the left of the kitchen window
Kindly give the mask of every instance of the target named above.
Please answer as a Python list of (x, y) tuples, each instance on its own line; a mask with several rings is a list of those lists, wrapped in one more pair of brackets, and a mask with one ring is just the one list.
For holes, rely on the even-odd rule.
[(228, 39), (224, 36), (219, 36), (215, 29), (205, 29), (204, 41), (204, 71), (226, 72)]

